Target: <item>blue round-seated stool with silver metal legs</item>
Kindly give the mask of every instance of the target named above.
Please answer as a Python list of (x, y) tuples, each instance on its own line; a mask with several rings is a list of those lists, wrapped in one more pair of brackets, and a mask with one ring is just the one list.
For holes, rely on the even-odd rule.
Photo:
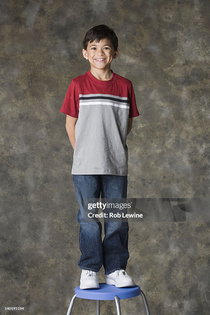
[(141, 295), (142, 297), (146, 310), (146, 315), (150, 315), (150, 310), (147, 304), (145, 294), (138, 285), (127, 288), (116, 288), (115, 285), (99, 283), (99, 289), (81, 290), (80, 287), (77, 287), (75, 289), (75, 295), (72, 297), (71, 302), (69, 304), (66, 315), (71, 314), (76, 297), (87, 300), (96, 300), (96, 315), (100, 315), (100, 300), (115, 300), (117, 315), (121, 315), (120, 300), (129, 299), (131, 297), (135, 297), (138, 295)]

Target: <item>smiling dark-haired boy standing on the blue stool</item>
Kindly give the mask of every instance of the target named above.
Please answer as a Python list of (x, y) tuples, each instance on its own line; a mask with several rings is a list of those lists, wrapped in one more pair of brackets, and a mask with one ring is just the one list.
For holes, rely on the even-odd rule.
[(97, 272), (104, 266), (106, 284), (134, 286), (125, 272), (128, 222), (101, 223), (82, 220), (84, 198), (127, 198), (127, 135), (133, 117), (139, 116), (130, 80), (111, 70), (118, 56), (118, 39), (106, 25), (91, 28), (83, 39), (82, 54), (90, 70), (74, 78), (60, 112), (66, 114), (66, 130), (74, 149), (71, 174), (80, 209), (79, 245), (81, 289), (99, 288)]

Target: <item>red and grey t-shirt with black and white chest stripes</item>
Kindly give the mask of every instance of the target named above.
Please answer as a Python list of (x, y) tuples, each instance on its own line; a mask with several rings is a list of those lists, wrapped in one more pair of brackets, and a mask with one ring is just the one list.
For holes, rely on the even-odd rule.
[(68, 87), (60, 112), (78, 117), (71, 174), (128, 175), (128, 117), (139, 112), (132, 82), (111, 72), (101, 81), (89, 70)]

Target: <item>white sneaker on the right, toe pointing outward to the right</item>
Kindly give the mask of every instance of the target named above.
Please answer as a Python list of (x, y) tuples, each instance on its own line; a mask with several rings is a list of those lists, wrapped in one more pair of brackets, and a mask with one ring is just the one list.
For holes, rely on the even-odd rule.
[(117, 288), (134, 287), (135, 283), (124, 269), (116, 270), (106, 275), (106, 284), (115, 285)]

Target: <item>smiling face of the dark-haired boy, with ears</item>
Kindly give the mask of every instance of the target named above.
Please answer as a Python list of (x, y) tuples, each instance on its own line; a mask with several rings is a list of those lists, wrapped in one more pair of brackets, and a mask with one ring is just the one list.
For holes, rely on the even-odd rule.
[[(87, 49), (82, 49), (85, 59), (89, 60), (91, 68), (110, 69), (111, 62), (118, 56), (119, 49), (114, 51), (111, 42), (104, 38), (99, 43), (88, 43)], [(102, 59), (102, 60), (101, 60)]]

